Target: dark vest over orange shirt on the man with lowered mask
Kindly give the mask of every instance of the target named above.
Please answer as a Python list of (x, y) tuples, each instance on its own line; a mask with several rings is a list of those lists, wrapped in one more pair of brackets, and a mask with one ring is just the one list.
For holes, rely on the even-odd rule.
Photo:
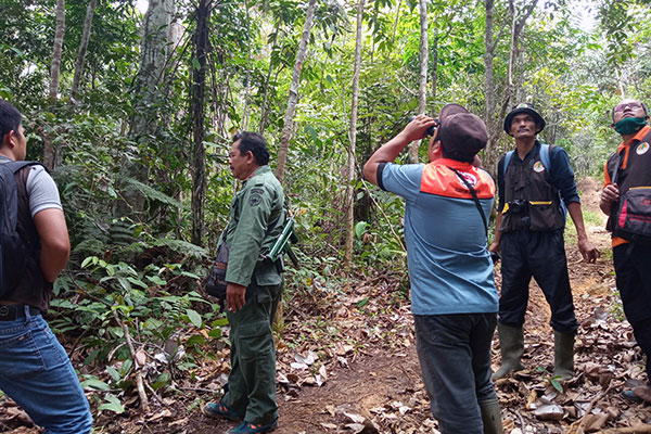
[[(622, 201), (626, 193), (631, 189), (651, 199), (651, 130), (647, 132), (641, 141), (630, 143), (626, 168), (623, 169), (622, 164), (625, 157), (626, 149), (623, 149), (621, 154), (615, 152), (607, 162), (605, 169), (611, 181), (617, 184), (620, 200), (613, 205), (605, 228), (613, 232), (614, 237), (629, 240), (630, 237), (618, 229), (617, 221), (621, 217), (618, 210), (622, 208)], [(617, 178), (613, 179), (617, 164), (620, 165)]]

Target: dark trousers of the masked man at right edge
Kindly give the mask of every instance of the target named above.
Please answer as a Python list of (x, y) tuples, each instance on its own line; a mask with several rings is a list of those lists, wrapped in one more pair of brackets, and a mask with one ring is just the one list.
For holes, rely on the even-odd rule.
[(651, 246), (622, 244), (613, 248), (617, 290), (635, 339), (647, 355), (651, 382)]

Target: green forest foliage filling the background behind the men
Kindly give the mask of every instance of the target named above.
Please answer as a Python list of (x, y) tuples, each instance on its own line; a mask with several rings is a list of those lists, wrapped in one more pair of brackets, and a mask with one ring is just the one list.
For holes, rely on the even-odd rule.
[[(298, 89), (290, 89), (306, 2), (271, 0), (218, 2), (209, 18), (209, 71), (206, 84), (204, 145), (206, 245), (190, 240), (195, 186), (193, 118), (189, 112), (193, 59), (191, 36), (195, 4), (176, 2), (184, 33), (168, 46), (165, 69), (155, 86), (162, 113), (151, 137), (129, 138), (133, 89), (140, 71), (142, 16), (132, 1), (98, 2), (81, 88), (69, 98), (81, 39), (86, 3), (66, 2), (60, 99), (47, 98), (54, 35), (53, 0), (25, 7), (4, 0), (0, 14), (0, 98), (24, 113), (28, 158), (42, 159), (47, 139), (61, 162), (59, 184), (73, 245), (68, 270), (55, 284), (52, 326), (77, 333), (87, 365), (105, 365), (101, 378), (86, 378), (101, 409), (119, 413), (119, 392), (132, 387), (132, 356), (124, 329), (145, 345), (146, 360), (165, 343), (175, 363), (155, 365), (148, 383), (169, 386), (175, 370), (192, 370), (210, 340), (224, 340), (224, 319), (197, 293), (226, 226), (238, 182), (228, 166), (233, 131), (259, 130), (276, 162), (288, 95), (299, 95), (293, 118), (285, 192), (301, 239), (295, 251), (302, 267), (289, 267), (290, 294), (340, 296), (347, 275), (341, 269), (346, 228), (345, 179), (349, 149), (354, 17), (356, 2), (318, 2), (308, 55)], [(245, 9), (248, 5), (248, 10)], [(459, 0), (427, 2), (430, 68), (427, 113), (447, 102), (485, 113), (485, 7)], [(651, 97), (651, 24), (648, 1), (601, 2), (599, 26), (582, 28), (563, 2), (539, 7), (525, 23), (513, 65), (512, 100), (536, 103), (547, 119), (541, 139), (563, 146), (579, 175), (601, 178), (607, 156), (618, 143), (610, 128), (610, 108), (623, 97)], [(511, 15), (495, 3), (494, 76), (498, 106), (510, 55)], [(403, 200), (361, 181), (372, 152), (398, 133), (418, 107), (420, 16), (418, 2), (367, 2), (359, 76), (354, 183), (355, 239), (352, 268), (401, 271), (399, 296), (408, 294), (401, 219)], [(173, 26), (174, 27), (174, 26)], [(499, 29), (503, 31), (499, 34)], [(435, 97), (432, 92), (435, 91)], [(263, 113), (265, 116), (263, 117)], [(501, 123), (502, 119), (496, 122)], [(496, 150), (510, 145), (503, 133)], [(424, 146), (422, 146), (424, 148)], [(421, 150), (422, 153), (423, 150)], [(421, 155), (424, 161), (424, 155)], [(406, 163), (404, 154), (397, 163)], [(136, 181), (120, 177), (133, 163), (148, 174)], [(143, 209), (116, 215), (127, 189), (146, 199)], [(599, 216), (585, 214), (586, 222)], [(569, 224), (569, 237), (572, 225)], [(607, 253), (604, 253), (607, 254)], [(317, 297), (318, 298), (318, 297)], [(291, 298), (285, 303), (291, 304)], [(363, 308), (366, 301), (360, 301)], [(207, 333), (199, 333), (199, 331)], [(207, 337), (206, 337), (207, 335)], [(174, 345), (171, 345), (174, 344)], [(178, 357), (178, 359), (175, 359)]]

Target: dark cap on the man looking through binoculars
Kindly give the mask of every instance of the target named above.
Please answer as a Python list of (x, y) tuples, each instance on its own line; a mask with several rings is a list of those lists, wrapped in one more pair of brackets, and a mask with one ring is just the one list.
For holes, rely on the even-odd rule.
[(456, 159), (472, 159), (477, 152), (486, 148), (488, 132), (484, 120), (470, 113), (457, 113), (446, 116), (439, 128), (441, 145)]

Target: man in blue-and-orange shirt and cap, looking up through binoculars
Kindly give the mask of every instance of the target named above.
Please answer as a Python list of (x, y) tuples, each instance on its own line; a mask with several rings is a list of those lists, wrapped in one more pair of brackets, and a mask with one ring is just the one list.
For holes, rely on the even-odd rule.
[[(394, 164), (426, 135), (429, 164)], [(486, 250), (495, 183), (473, 165), (487, 138), (477, 116), (448, 104), (439, 119), (417, 116), (363, 166), (367, 180), (405, 197), (416, 346), (443, 434), (502, 433), (490, 381), (497, 290)]]

